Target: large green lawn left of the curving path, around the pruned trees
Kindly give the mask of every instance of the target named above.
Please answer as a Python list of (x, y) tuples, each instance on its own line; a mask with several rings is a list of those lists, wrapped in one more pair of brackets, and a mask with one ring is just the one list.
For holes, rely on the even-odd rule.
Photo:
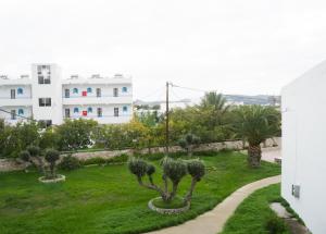
[[(158, 230), (212, 209), (244, 184), (280, 173), (278, 165), (266, 162), (260, 169), (249, 169), (246, 157), (239, 152), (201, 158), (209, 168), (208, 174), (195, 190), (190, 211), (179, 215), (150, 211), (147, 204), (158, 195), (139, 187), (126, 165), (64, 172), (66, 182), (48, 185), (39, 183), (35, 172), (2, 173), (0, 233), (113, 234)], [(155, 181), (161, 181), (159, 175)], [(189, 184), (190, 177), (181, 182), (180, 195)]]

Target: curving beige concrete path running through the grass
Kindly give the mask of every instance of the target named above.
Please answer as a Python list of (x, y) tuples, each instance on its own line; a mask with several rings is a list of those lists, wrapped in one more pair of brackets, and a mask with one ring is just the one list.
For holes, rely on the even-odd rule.
[(222, 232), (225, 222), (230, 218), (237, 207), (256, 189), (280, 182), (280, 175), (267, 177), (244, 185), (218, 204), (213, 210), (208, 211), (193, 220), (177, 226), (150, 232), (148, 234), (216, 234)]

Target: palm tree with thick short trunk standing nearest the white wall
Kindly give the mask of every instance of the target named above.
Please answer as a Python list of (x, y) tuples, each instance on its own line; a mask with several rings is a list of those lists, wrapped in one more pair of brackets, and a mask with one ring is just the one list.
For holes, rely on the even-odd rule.
[(236, 110), (235, 131), (238, 137), (248, 141), (248, 163), (260, 167), (261, 143), (280, 131), (280, 113), (274, 107), (242, 106)]

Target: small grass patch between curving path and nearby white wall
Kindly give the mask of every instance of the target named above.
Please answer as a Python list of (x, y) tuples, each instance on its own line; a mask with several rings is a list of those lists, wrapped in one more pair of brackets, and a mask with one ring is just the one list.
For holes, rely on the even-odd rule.
[[(235, 214), (227, 221), (222, 234), (268, 234), (266, 226), (273, 224), (274, 227), (284, 226), (284, 220), (277, 218), (274, 211), (269, 208), (269, 204), (279, 201), (280, 185), (271, 185), (259, 189), (249, 196), (237, 208)], [(286, 227), (283, 232), (290, 234)]]

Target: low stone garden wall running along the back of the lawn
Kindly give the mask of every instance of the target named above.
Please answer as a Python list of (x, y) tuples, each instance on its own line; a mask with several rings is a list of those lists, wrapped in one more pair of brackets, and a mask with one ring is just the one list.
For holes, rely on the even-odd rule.
[[(273, 139), (267, 139), (262, 147), (275, 147), (280, 146), (281, 138), (275, 137)], [(171, 146), (170, 152), (179, 152), (184, 151), (184, 149), (179, 146)], [(241, 150), (243, 149), (243, 143), (241, 140), (234, 140), (234, 141), (223, 141), (223, 143), (210, 143), (210, 144), (201, 144), (199, 147), (193, 149), (193, 151), (220, 151), (223, 149), (234, 149), (234, 150)], [(151, 148), (152, 153), (156, 152), (164, 152), (165, 147), (153, 147)], [(73, 157), (79, 160), (87, 160), (91, 158), (103, 158), (110, 159), (115, 156), (121, 156), (123, 153), (131, 156), (135, 151), (133, 149), (124, 149), (124, 150), (105, 150), (105, 151), (95, 151), (95, 152), (75, 152)], [(149, 152), (149, 149), (141, 149), (137, 152), (146, 155)], [(15, 171), (15, 170), (23, 170), (24, 163), (18, 162), (15, 159), (0, 159), (0, 172), (5, 171)]]

